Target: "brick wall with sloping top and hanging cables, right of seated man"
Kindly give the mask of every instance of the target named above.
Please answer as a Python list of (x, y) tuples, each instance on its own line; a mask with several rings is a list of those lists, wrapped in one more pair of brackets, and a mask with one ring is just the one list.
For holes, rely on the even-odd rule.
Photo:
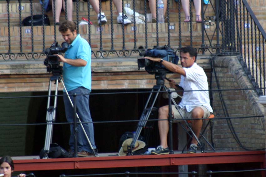
[[(248, 149), (265, 148), (265, 117), (263, 106), (258, 103), (258, 95), (253, 90), (229, 90), (252, 88), (247, 75), (242, 70), (237, 57), (216, 57), (214, 62), (217, 80), (229, 117), (255, 116), (245, 119), (231, 119), (232, 125), (242, 145)], [(212, 89), (217, 89), (212, 76)], [(213, 110), (217, 118), (223, 118), (223, 108), (218, 91), (213, 91)], [(217, 150), (243, 150), (234, 139), (226, 119), (213, 120), (213, 142)], [(209, 132), (208, 132), (209, 133)], [(210, 135), (210, 134), (208, 134)]]

